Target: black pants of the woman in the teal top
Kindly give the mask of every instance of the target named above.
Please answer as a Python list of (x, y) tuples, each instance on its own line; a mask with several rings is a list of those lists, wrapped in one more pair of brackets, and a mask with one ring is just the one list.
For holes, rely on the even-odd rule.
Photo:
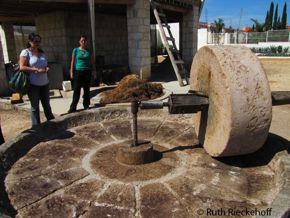
[(84, 108), (88, 107), (90, 104), (89, 97), (89, 85), (91, 78), (91, 70), (74, 70), (74, 84), (73, 84), (73, 96), (72, 102), (70, 104), (69, 110), (76, 110), (76, 106), (80, 97), (81, 85), (83, 88), (83, 101), (82, 105)]

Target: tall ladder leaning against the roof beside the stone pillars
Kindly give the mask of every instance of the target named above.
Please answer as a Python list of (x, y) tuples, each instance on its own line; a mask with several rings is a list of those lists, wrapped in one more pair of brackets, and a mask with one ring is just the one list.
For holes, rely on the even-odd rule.
[[(175, 44), (175, 39), (172, 36), (172, 33), (170, 31), (170, 26), (167, 23), (166, 15), (163, 13), (161, 4), (159, 0), (150, 0), (151, 7), (153, 9), (156, 21), (159, 26), (159, 30), (161, 32), (161, 36), (163, 38), (165, 47), (167, 49), (169, 58), (171, 60), (173, 69), (175, 71), (176, 77), (178, 79), (179, 85), (184, 86), (189, 84), (189, 79), (186, 75), (187, 70), (184, 68), (184, 62), (180, 57), (180, 51), (177, 49)], [(167, 31), (169, 33), (169, 36), (166, 36), (164, 28), (167, 28)], [(173, 48), (169, 47), (168, 41), (172, 42)], [(186, 84), (183, 83), (183, 79), (181, 77), (183, 75), (183, 79), (185, 80)]]

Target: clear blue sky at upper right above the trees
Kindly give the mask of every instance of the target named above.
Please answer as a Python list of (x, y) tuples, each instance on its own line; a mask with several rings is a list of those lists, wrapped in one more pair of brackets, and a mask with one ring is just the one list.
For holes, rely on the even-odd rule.
[(205, 8), (207, 8), (207, 22), (222, 18), (225, 27), (230, 25), (230, 19), (233, 28), (238, 28), (239, 11), (242, 8), (243, 14), (240, 21), (240, 29), (243, 26), (252, 26), (253, 21), (250, 18), (257, 19), (260, 23), (265, 22), (267, 10), (270, 3), (274, 3), (274, 12), (278, 3), (278, 17), (282, 17), (284, 3), (287, 4), (287, 25), (290, 25), (290, 0), (205, 0), (199, 21), (205, 21)]

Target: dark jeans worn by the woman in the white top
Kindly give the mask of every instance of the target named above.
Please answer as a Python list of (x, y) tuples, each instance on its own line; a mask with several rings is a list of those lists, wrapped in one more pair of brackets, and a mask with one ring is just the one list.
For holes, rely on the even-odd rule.
[(27, 94), (31, 104), (30, 115), (32, 127), (40, 124), (39, 100), (41, 101), (46, 119), (54, 119), (49, 104), (49, 83), (46, 85), (30, 84), (30, 89)]

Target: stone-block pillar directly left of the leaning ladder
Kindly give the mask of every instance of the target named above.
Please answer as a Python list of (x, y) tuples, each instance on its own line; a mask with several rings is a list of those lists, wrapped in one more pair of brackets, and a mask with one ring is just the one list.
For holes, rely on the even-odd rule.
[(150, 79), (150, 2), (135, 0), (127, 5), (128, 57), (130, 72)]

